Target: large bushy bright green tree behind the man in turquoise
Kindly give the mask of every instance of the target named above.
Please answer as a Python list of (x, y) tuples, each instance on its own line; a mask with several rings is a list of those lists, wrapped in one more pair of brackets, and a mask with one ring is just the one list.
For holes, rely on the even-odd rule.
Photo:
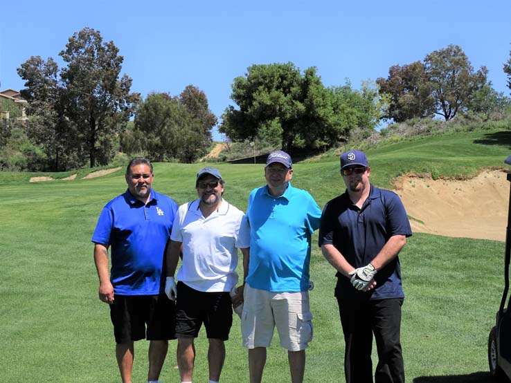
[[(302, 75), (292, 63), (253, 65), (245, 76), (235, 78), (232, 89), (237, 108), (226, 108), (219, 131), (233, 141), (269, 142), (287, 151), (327, 149), (354, 127), (375, 126), (372, 117), (360, 118), (365, 107), (362, 93), (350, 94), (357, 100), (350, 104), (343, 100), (345, 93), (323, 86), (314, 67)], [(361, 113), (353, 113), (356, 118), (347, 123), (339, 116), (343, 108)]]

